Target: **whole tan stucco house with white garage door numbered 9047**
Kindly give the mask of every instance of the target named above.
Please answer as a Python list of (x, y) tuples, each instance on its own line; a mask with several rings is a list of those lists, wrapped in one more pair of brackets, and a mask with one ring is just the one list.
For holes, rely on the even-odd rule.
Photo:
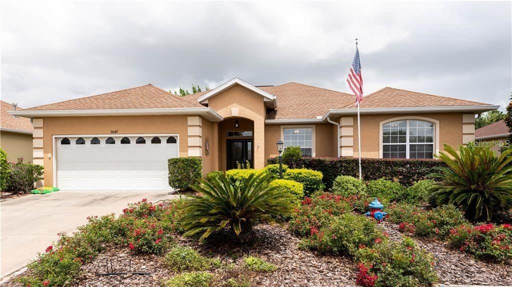
[[(383, 88), (361, 105), (361, 154), (432, 158), (443, 143), (475, 139), (475, 115), (498, 106)], [(354, 95), (233, 79), (178, 97), (145, 85), (11, 112), (33, 119), (34, 162), (45, 185), (165, 189), (167, 158), (202, 157), (203, 173), (237, 162), (260, 169), (276, 141), (313, 157), (357, 157)]]

